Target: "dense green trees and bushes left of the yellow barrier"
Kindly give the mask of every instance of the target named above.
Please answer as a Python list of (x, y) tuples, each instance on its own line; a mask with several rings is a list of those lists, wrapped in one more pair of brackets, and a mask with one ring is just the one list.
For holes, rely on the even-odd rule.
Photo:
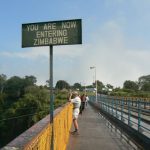
[[(37, 86), (35, 82), (34, 76), (14, 76), (5, 81), (4, 90), (0, 93), (0, 146), (49, 114), (49, 89)], [(55, 94), (55, 108), (66, 103), (67, 93), (63, 91)]]

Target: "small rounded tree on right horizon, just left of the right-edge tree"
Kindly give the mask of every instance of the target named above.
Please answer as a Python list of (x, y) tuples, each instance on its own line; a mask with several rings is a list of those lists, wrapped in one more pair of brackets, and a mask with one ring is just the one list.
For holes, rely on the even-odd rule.
[(124, 89), (138, 90), (138, 84), (134, 81), (126, 80), (123, 84)]

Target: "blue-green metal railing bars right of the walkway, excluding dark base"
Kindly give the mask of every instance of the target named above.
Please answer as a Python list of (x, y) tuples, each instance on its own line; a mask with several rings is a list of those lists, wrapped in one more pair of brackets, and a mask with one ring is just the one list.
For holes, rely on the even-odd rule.
[[(90, 100), (95, 102), (95, 97)], [(99, 95), (100, 108), (150, 138), (150, 100)]]

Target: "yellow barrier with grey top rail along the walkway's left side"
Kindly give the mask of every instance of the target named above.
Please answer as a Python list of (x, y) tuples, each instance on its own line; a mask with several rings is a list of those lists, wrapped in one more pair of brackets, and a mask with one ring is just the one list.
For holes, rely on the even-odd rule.
[[(72, 105), (67, 103), (54, 111), (54, 150), (65, 150), (72, 124)], [(1, 150), (50, 150), (52, 125), (46, 116)]]

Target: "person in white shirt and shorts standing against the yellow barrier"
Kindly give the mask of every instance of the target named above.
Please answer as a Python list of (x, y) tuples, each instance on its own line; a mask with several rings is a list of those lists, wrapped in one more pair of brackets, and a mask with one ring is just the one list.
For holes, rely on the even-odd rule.
[(69, 95), (69, 102), (73, 103), (73, 125), (74, 125), (74, 131), (71, 132), (72, 134), (79, 134), (79, 126), (78, 126), (78, 116), (80, 112), (80, 105), (81, 105), (81, 99), (78, 95), (78, 92), (73, 92)]

